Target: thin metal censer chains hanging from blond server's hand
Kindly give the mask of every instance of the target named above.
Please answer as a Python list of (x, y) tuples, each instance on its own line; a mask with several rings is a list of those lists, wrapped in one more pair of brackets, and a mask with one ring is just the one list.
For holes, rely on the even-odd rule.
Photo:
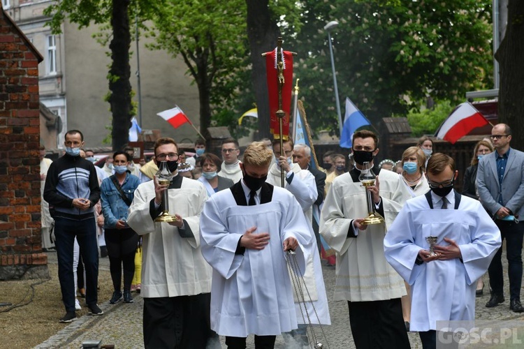
[[(295, 251), (287, 251), (286, 260), (287, 260), (287, 266), (288, 266), (289, 275), (291, 277), (291, 282), (293, 283), (293, 288), (294, 288), (295, 293), (296, 293), (296, 295), (298, 297), (298, 307), (300, 308), (300, 313), (302, 315), (302, 320), (305, 322), (304, 312), (305, 312), (306, 317), (307, 317), (307, 332), (306, 332), (306, 334), (307, 334), (307, 339), (310, 342), (310, 348), (312, 348), (312, 349), (329, 348), (328, 337), (324, 333), (324, 330), (323, 330), (323, 327), (322, 327), (322, 324), (321, 324), (321, 321), (320, 321), (320, 318), (319, 318), (319, 314), (316, 313), (315, 306), (314, 306), (314, 304), (312, 302), (312, 299), (311, 299), (310, 291), (307, 290), (307, 285), (306, 285), (306, 283), (304, 281), (304, 277), (302, 275), (300, 275), (300, 268), (298, 267), (298, 261), (296, 260), (296, 253), (295, 253)], [(323, 346), (322, 343), (319, 342), (319, 340), (317, 339), (316, 334), (314, 332), (313, 325), (312, 325), (311, 318), (310, 318), (310, 314), (307, 312), (307, 307), (306, 307), (306, 302), (307, 301), (306, 301), (306, 298), (305, 298), (304, 290), (307, 293), (307, 299), (309, 299), (309, 302), (312, 305), (312, 308), (313, 308), (313, 311), (314, 311), (314, 314), (315, 314), (315, 317), (316, 317), (316, 321), (319, 323), (319, 327), (320, 327), (320, 330), (322, 332), (322, 336), (321, 337), (323, 338), (323, 341), (325, 341), (325, 343), (326, 343), (325, 347)]]

